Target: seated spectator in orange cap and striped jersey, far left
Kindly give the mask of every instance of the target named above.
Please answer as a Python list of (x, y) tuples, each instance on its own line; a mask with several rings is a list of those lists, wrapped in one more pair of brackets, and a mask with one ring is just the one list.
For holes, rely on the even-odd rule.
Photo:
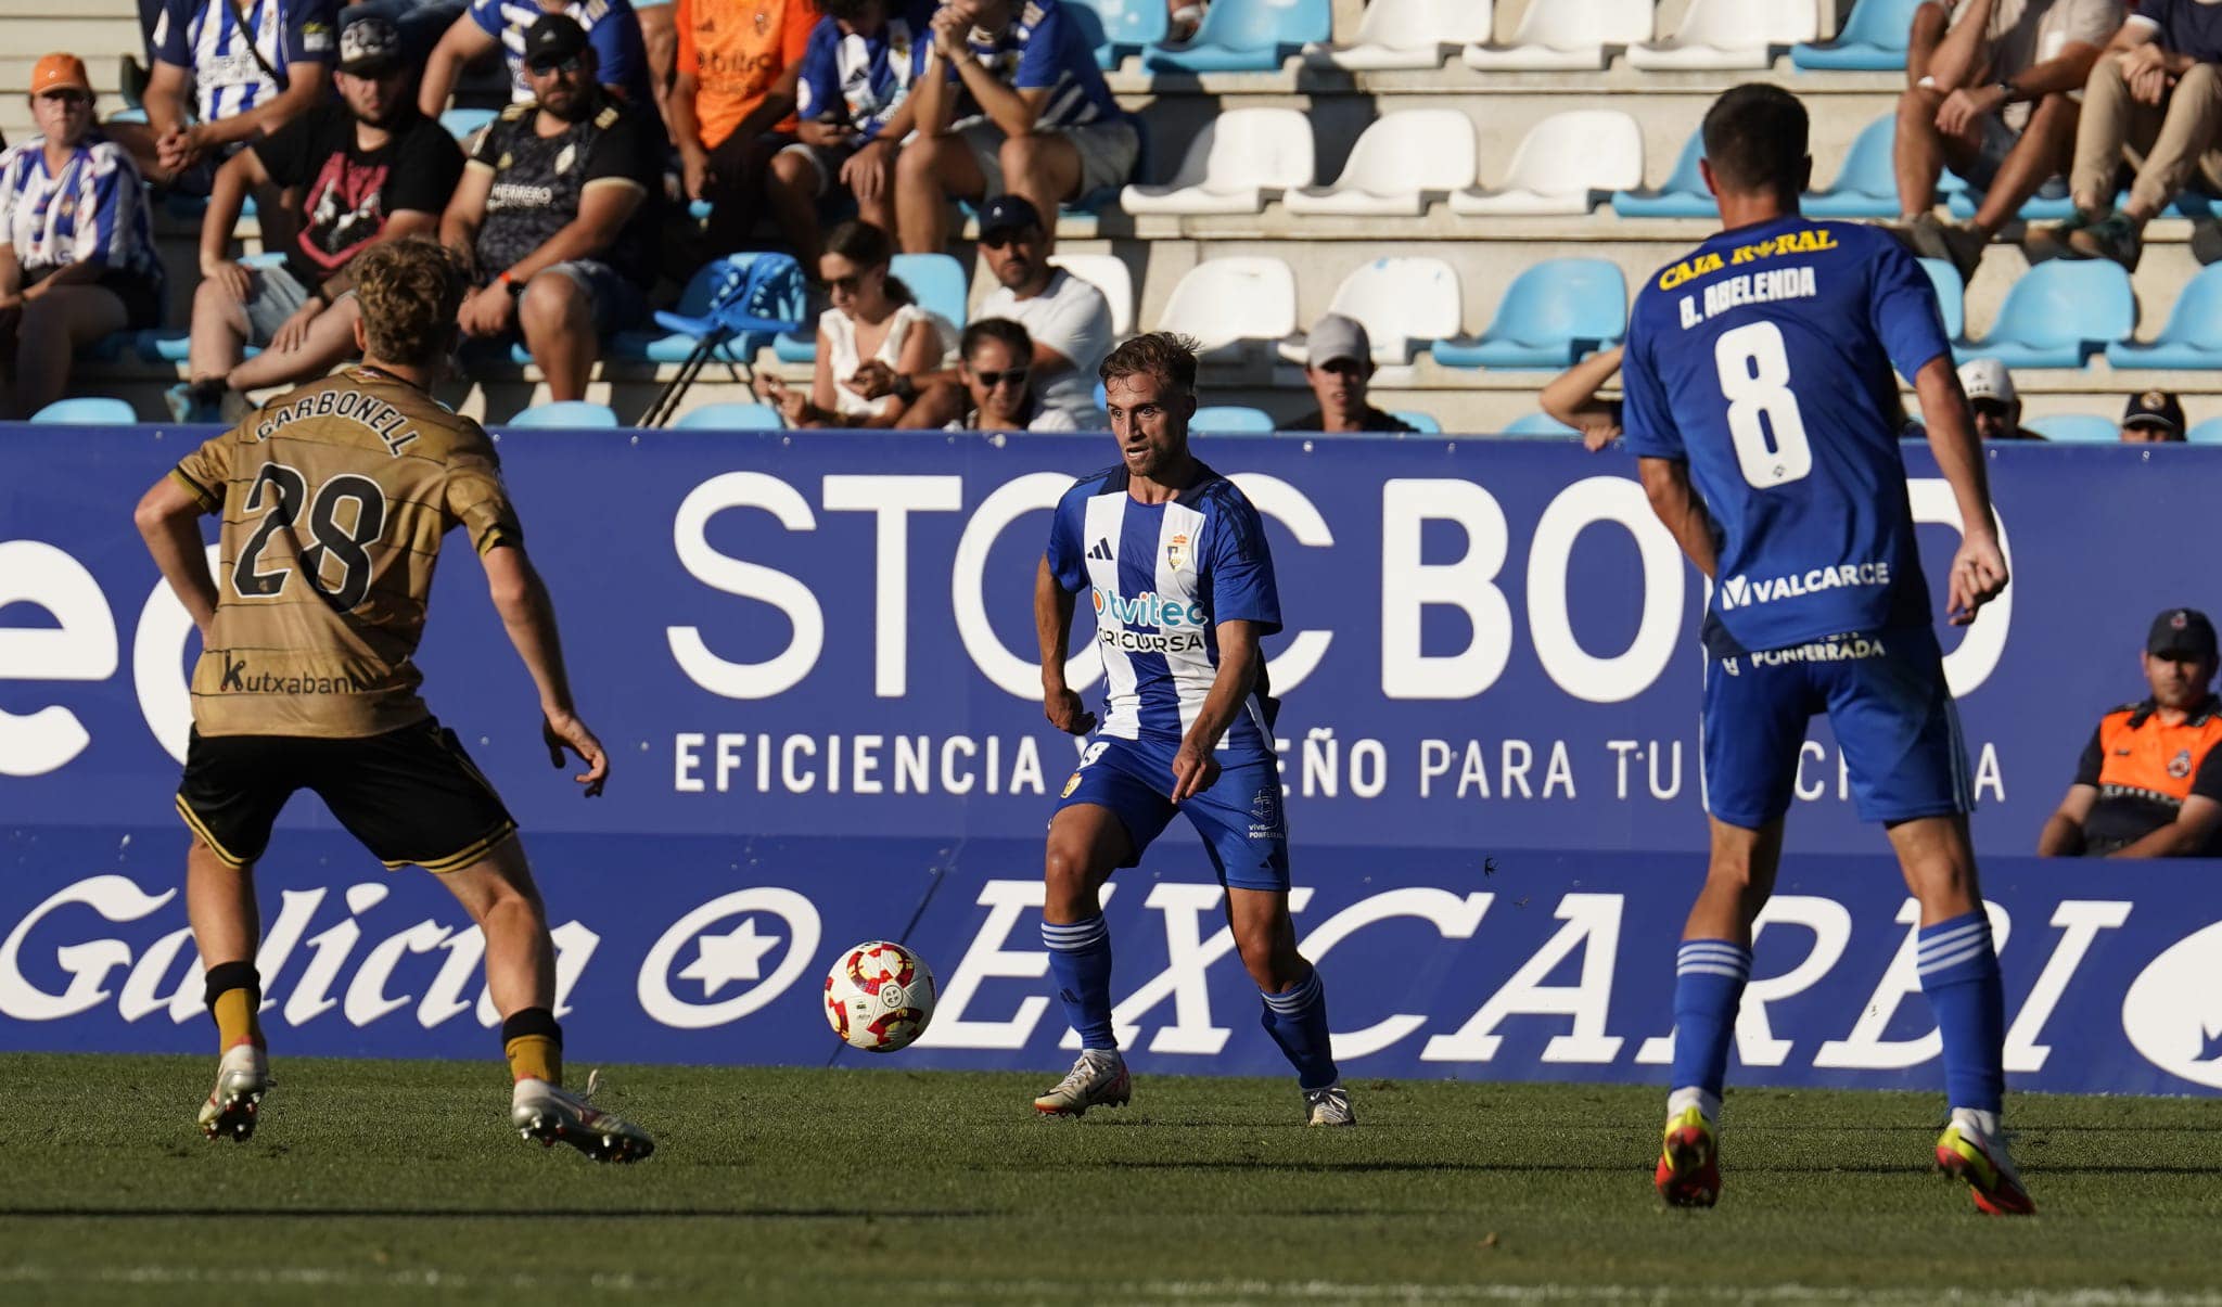
[(69, 358), (162, 320), (162, 260), (131, 156), (93, 122), (84, 60), (31, 67), (38, 136), (0, 153), (0, 411), (29, 418), (69, 387)]

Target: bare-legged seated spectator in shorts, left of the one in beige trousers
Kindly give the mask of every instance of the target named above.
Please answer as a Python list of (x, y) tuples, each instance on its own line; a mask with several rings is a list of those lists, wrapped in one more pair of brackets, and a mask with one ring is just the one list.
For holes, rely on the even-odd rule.
[[(1960, 0), (1926, 73), (1898, 98), (1898, 204), (1915, 253), (1975, 276), (1998, 229), (2066, 171), (2075, 91), (2120, 27), (2120, 0)], [(1975, 216), (1951, 227), (1935, 216), (1946, 164), (1982, 191)]]

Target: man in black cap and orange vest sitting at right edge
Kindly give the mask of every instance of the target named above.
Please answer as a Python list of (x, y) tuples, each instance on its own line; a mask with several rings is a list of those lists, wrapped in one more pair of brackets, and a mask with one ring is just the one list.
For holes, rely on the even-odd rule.
[(2222, 831), (2222, 700), (2215, 627), (2198, 609), (2169, 609), (2144, 638), (2151, 698), (2100, 718), (2075, 785), (2044, 822), (2038, 854), (2202, 858)]

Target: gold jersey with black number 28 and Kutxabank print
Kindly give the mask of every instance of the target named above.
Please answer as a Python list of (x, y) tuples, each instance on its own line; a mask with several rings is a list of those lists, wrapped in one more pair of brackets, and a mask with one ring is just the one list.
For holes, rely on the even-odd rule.
[(380, 736), (427, 718), (413, 656), (440, 540), (520, 542), (487, 431), (351, 367), (262, 405), (171, 473), (222, 513), (202, 736)]

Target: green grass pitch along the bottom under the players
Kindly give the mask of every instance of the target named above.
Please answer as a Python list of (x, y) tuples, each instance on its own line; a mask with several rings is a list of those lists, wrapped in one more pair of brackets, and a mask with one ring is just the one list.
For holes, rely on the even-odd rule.
[[(1653, 1089), (618, 1067), (635, 1167), (507, 1129), (498, 1062), (0, 1056), (0, 1303), (2222, 1303), (2222, 1100), (2018, 1096), (2042, 1207), (1929, 1171), (1938, 1098), (1729, 1096), (1713, 1211), (1651, 1194)], [(584, 1067), (575, 1067), (584, 1071)]]

